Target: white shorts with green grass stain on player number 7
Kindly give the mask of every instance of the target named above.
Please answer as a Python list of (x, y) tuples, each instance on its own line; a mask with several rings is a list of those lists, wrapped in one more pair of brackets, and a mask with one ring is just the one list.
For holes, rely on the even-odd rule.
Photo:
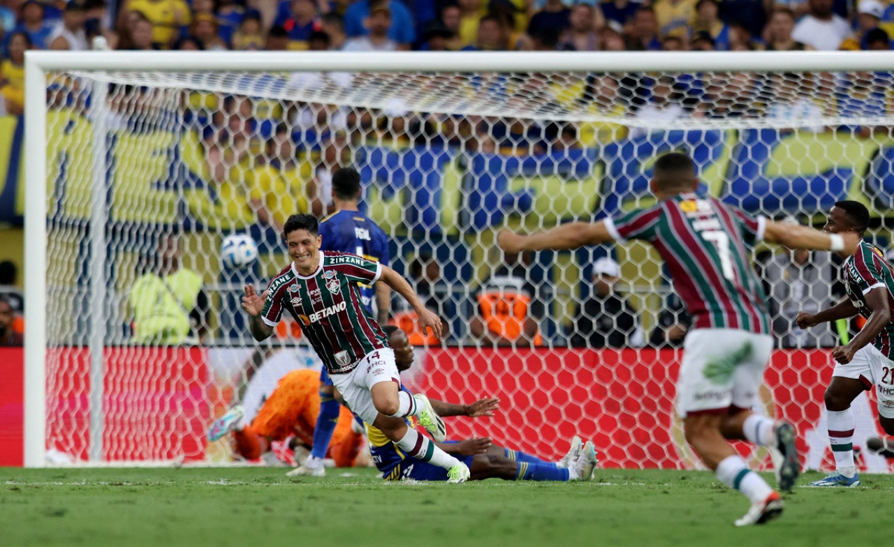
[(763, 383), (773, 339), (738, 329), (696, 329), (683, 341), (677, 379), (679, 417), (751, 408)]

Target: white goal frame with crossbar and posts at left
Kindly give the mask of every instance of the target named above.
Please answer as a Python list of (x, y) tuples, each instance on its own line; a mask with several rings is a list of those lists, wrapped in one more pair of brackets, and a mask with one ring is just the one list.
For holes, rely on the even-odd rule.
[[(108, 222), (108, 211), (105, 208), (105, 177), (107, 166), (105, 155), (105, 137), (109, 128), (106, 126), (109, 108), (109, 82), (131, 82), (131, 78), (139, 80), (139, 73), (161, 75), (150, 76), (146, 85), (166, 86), (170, 84), (165, 75), (173, 75), (173, 79), (181, 78), (180, 74), (192, 74), (190, 78), (180, 79), (184, 88), (195, 82), (210, 82), (217, 73), (267, 74), (281, 72), (350, 72), (374, 74), (426, 74), (451, 73), (462, 77), (465, 74), (482, 73), (527, 73), (537, 74), (538, 85), (546, 86), (552, 75), (563, 74), (629, 74), (629, 73), (703, 73), (703, 72), (760, 72), (760, 73), (832, 73), (832, 72), (894, 72), (894, 53), (892, 52), (730, 52), (730, 53), (341, 53), (341, 52), (296, 52), (296, 53), (210, 53), (210, 52), (43, 52), (29, 51), (26, 54), (26, 101), (25, 120), (25, 154), (24, 167), (25, 186), (27, 189), (25, 202), (25, 299), (26, 309), (25, 332), (25, 466), (44, 467), (47, 452), (47, 344), (51, 332), (47, 332), (49, 317), (47, 268), (52, 257), (48, 256), (47, 243), (47, 194), (48, 166), (45, 161), (46, 151), (50, 146), (47, 133), (46, 100), (47, 78), (53, 73), (65, 73), (76, 77), (93, 75), (94, 85), (91, 89), (91, 105), (89, 119), (94, 131), (92, 157), (89, 158), (90, 173), (95, 177), (93, 199), (89, 204), (89, 226), (105, 226)], [(207, 77), (205, 80), (203, 78)], [(173, 80), (172, 80), (173, 81)], [(415, 85), (412, 78), (394, 85), (390, 93), (380, 97), (359, 97), (346, 93), (344, 97), (335, 97), (336, 105), (351, 107), (362, 104), (364, 107), (384, 108), (393, 94), (405, 93), (404, 105), (409, 112), (425, 112), (430, 101), (425, 99), (425, 91), (411, 88)], [(388, 82), (386, 82), (388, 83)], [(560, 82), (561, 83), (561, 82)], [(88, 84), (89, 85), (89, 84)], [(134, 85), (127, 83), (127, 85)], [(226, 82), (208, 83), (208, 92), (225, 93)], [(384, 84), (383, 84), (384, 85)], [(215, 87), (216, 86), (216, 87)], [(223, 87), (220, 87), (223, 86)], [(439, 88), (444, 97), (449, 95), (449, 85)], [(437, 91), (433, 91), (437, 92)], [(422, 98), (420, 98), (422, 97)], [(284, 97), (275, 97), (277, 100)], [(468, 114), (486, 116), (518, 116), (514, 106), (506, 106), (512, 98), (511, 94), (502, 96), (499, 101), (485, 100), (477, 104), (456, 106), (459, 110), (451, 111), (450, 101), (439, 103), (438, 112), (444, 114)], [(323, 99), (321, 99), (323, 100)], [(361, 103), (352, 103), (359, 100)], [(433, 99), (434, 100), (434, 99)], [(340, 102), (343, 101), (343, 102)], [(501, 102), (502, 101), (502, 102)], [(474, 101), (473, 101), (474, 103)], [(531, 104), (521, 105), (528, 108)], [(477, 110), (476, 110), (477, 109)], [(586, 121), (588, 116), (601, 119), (599, 113), (566, 113), (530, 114), (532, 119), (549, 121), (551, 118), (562, 121)], [(875, 120), (852, 118), (852, 121), (866, 122), (875, 125), (894, 125), (891, 116), (894, 113), (881, 115)], [(649, 121), (634, 121), (629, 118), (616, 120), (631, 125), (662, 129), (661, 122), (652, 124)], [(816, 120), (821, 124), (839, 121), (834, 115)], [(729, 129), (738, 127), (741, 121), (729, 122), (718, 120), (700, 120), (679, 122), (679, 127), (718, 127)], [(757, 127), (780, 130), (787, 127), (783, 121), (755, 121)], [(738, 125), (737, 125), (738, 124)], [(676, 126), (675, 126), (676, 127)], [(670, 128), (665, 128), (670, 129)], [(82, 158), (82, 161), (88, 161)], [(890, 213), (889, 213), (890, 215)], [(558, 215), (561, 220), (561, 215)], [(89, 393), (92, 409), (89, 417), (89, 458), (90, 464), (102, 463), (103, 438), (103, 378), (104, 349), (106, 339), (106, 323), (102, 310), (105, 309), (107, 295), (105, 293), (105, 249), (104, 230), (91, 232), (89, 240), (89, 275), (90, 283), (89, 308), (94, 310), (89, 316), (89, 339), (85, 341), (89, 348), (89, 375), (94, 388)], [(86, 251), (85, 251), (86, 252)], [(480, 345), (459, 342), (460, 348), (480, 348)], [(552, 342), (547, 346), (552, 347)], [(97, 387), (99, 386), (99, 387)]]

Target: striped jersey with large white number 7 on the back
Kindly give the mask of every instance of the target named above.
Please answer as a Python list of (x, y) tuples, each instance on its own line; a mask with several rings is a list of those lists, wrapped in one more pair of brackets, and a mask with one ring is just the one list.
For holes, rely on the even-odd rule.
[(763, 288), (746, 248), (763, 240), (765, 218), (717, 198), (680, 194), (605, 223), (617, 241), (652, 243), (694, 328), (769, 332)]

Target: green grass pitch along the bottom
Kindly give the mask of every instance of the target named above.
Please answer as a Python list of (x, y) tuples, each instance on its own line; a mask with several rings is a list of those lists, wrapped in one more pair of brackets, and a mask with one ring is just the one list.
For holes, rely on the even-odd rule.
[(736, 528), (745, 499), (707, 472), (448, 485), (386, 484), (370, 469), (294, 480), (284, 471), (0, 468), (0, 544), (856, 546), (887, 536), (894, 493), (892, 475), (848, 490), (798, 487), (779, 520)]

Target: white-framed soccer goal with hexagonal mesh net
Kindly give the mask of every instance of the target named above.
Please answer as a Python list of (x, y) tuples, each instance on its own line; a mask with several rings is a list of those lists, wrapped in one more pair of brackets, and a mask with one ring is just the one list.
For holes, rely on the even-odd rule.
[[(288, 264), (288, 215), (332, 212), (339, 166), (448, 326), (427, 340), (394, 299), (417, 344), (405, 382), (499, 397), (451, 436), (544, 459), (579, 434), (603, 467), (697, 467), (673, 410), (688, 317), (652, 248), (505, 256), (500, 228), (648, 206), (654, 158), (677, 150), (705, 195), (814, 226), (856, 199), (892, 247), (894, 75), (878, 56), (126, 55), (29, 53), (26, 465), (247, 461), (207, 427), (235, 403), (250, 422), (283, 374), (320, 362), (289, 317), (255, 343), (242, 286)], [(224, 265), (232, 234), (256, 262)], [(843, 298), (839, 260), (766, 245), (754, 260), (778, 346), (755, 408), (826, 467), (830, 349), (860, 325), (793, 320)], [(878, 434), (875, 404), (855, 402), (856, 445)]]

